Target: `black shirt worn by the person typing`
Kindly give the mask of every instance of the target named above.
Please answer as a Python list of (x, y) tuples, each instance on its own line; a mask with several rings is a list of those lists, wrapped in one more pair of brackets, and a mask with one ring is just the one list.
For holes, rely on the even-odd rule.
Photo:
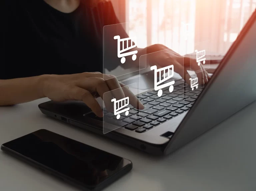
[(0, 79), (103, 72), (103, 26), (119, 23), (111, 2), (62, 13), (43, 0), (1, 0), (0, 11)]

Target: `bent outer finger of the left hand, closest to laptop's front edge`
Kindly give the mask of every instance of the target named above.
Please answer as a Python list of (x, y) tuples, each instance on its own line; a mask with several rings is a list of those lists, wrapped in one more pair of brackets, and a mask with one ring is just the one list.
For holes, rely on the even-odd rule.
[(80, 87), (74, 86), (68, 92), (71, 100), (83, 101), (98, 117), (103, 117), (103, 111), (92, 94)]

